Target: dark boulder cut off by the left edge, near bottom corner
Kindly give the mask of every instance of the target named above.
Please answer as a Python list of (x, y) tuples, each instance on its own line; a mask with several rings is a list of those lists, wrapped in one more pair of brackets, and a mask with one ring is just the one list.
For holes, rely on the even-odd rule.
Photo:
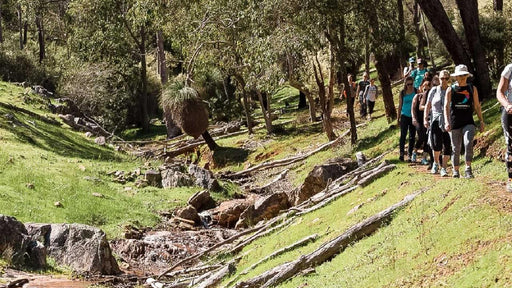
[(14, 265), (25, 263), (29, 237), (23, 223), (0, 214), (0, 257)]

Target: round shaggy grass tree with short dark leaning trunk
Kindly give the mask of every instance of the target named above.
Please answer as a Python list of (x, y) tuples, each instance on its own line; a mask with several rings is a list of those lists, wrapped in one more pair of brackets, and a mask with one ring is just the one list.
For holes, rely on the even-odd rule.
[(162, 92), (161, 104), (183, 132), (194, 138), (203, 136), (211, 151), (218, 147), (208, 133), (208, 111), (196, 89), (176, 79)]

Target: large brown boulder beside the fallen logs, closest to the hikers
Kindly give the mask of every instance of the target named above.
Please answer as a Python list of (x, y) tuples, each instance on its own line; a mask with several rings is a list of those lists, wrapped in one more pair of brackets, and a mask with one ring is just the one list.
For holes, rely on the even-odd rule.
[(291, 204), (294, 206), (308, 200), (327, 187), (329, 179), (334, 181), (357, 168), (357, 163), (351, 159), (336, 159), (334, 162), (315, 166), (304, 180), (304, 184), (289, 193)]

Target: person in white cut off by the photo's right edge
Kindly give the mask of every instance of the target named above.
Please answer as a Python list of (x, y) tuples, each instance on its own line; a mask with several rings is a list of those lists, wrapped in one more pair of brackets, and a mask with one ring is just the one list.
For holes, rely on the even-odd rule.
[(508, 181), (507, 192), (512, 192), (512, 64), (508, 64), (501, 73), (500, 83), (496, 90), (496, 98), (501, 103), (501, 126), (505, 134), (505, 143), (507, 144), (507, 153), (505, 162), (507, 163)]

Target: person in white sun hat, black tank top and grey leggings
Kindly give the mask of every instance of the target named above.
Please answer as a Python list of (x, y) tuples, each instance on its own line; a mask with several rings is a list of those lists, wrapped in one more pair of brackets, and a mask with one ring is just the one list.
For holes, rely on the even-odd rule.
[(473, 178), (471, 161), (473, 160), (473, 138), (475, 137), (476, 125), (473, 120), (475, 111), (480, 120), (480, 132), (484, 131), (485, 124), (482, 115), (480, 101), (478, 100), (478, 89), (469, 84), (467, 79), (473, 76), (466, 65), (457, 65), (455, 73), (451, 74), (457, 82), (446, 90), (446, 102), (444, 103), (444, 127), (450, 133), (452, 140), (452, 166), (453, 177), (459, 178), (460, 150), (464, 142), (465, 148), (465, 178)]

